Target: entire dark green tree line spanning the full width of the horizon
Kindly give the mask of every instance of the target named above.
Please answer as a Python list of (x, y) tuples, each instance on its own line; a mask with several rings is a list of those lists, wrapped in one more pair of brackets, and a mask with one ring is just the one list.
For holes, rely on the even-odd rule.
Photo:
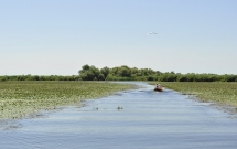
[(84, 65), (78, 75), (72, 76), (39, 76), (14, 75), (0, 76), (0, 81), (158, 81), (158, 82), (237, 82), (237, 75), (225, 74), (181, 74), (174, 72), (162, 73), (151, 68), (137, 68), (126, 65), (109, 68), (97, 68), (94, 65)]

